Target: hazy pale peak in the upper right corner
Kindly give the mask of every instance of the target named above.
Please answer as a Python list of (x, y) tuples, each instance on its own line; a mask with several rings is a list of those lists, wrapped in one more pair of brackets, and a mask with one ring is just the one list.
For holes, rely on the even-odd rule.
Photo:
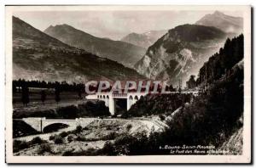
[(243, 29), (243, 19), (241, 17), (229, 16), (218, 11), (205, 15), (195, 24), (214, 26), (227, 33), (236, 34), (241, 34)]

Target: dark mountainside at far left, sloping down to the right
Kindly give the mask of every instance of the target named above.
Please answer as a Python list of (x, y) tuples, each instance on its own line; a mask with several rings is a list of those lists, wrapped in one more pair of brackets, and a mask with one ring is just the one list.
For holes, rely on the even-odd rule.
[(143, 78), (136, 70), (97, 57), (38, 31), (13, 17), (13, 78), (88, 81)]

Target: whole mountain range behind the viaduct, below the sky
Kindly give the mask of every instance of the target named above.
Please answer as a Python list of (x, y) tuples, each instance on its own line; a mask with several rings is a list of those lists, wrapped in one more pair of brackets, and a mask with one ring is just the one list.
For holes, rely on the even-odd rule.
[(177, 85), (197, 74), (242, 27), (242, 18), (216, 11), (195, 25), (131, 33), (113, 41), (66, 24), (50, 25), (42, 32), (14, 17), (14, 78), (113, 81), (146, 76)]

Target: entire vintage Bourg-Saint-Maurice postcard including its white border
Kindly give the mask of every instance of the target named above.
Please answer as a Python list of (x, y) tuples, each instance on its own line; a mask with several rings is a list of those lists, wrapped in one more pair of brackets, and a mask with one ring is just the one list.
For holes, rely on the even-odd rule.
[(7, 163), (251, 163), (250, 6), (6, 6)]

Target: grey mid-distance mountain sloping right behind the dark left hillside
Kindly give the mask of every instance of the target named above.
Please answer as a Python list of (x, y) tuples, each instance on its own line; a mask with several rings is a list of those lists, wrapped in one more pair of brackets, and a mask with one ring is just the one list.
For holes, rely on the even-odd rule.
[(76, 48), (85, 49), (102, 58), (115, 60), (128, 67), (133, 67), (143, 57), (146, 51), (145, 48), (132, 45), (131, 43), (92, 36), (66, 24), (51, 25), (44, 32), (61, 42), (65, 42)]

